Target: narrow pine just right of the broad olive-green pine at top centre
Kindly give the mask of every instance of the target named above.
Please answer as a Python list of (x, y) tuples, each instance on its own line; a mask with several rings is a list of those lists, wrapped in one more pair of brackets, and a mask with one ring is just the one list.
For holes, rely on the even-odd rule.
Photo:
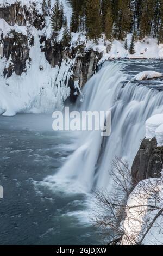
[(112, 25), (113, 25), (113, 20), (112, 20), (112, 10), (110, 7), (108, 7), (108, 10), (106, 12), (106, 17), (105, 17), (105, 44), (106, 41), (112, 41)]

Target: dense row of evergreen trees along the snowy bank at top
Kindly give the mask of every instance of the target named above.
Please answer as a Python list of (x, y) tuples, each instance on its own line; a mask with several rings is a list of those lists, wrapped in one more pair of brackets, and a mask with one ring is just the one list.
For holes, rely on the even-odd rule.
[[(86, 32), (87, 38), (98, 43), (105, 35), (105, 43), (113, 39), (125, 40), (133, 33), (133, 40), (153, 36), (163, 42), (163, 0), (67, 0), (72, 6), (70, 32)], [(64, 9), (56, 0), (51, 15), (52, 28), (65, 27), (69, 36)], [(68, 38), (70, 40), (70, 36)]]

